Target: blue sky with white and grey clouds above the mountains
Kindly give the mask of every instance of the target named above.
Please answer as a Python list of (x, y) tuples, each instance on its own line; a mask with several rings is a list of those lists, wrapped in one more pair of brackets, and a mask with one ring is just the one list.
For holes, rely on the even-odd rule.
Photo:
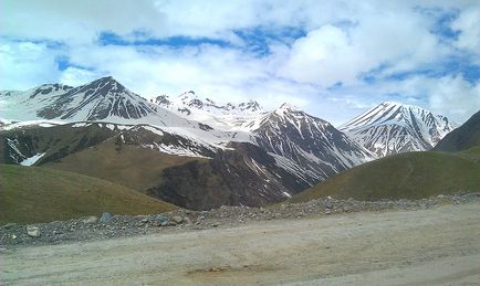
[(479, 18), (478, 0), (0, 0), (0, 89), (112, 75), (334, 125), (384, 100), (461, 124), (480, 109)]

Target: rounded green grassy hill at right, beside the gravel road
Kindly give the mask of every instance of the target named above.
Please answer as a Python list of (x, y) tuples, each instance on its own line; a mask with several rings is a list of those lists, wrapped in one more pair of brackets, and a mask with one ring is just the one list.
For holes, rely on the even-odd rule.
[(292, 202), (331, 195), (357, 200), (420, 199), (480, 191), (480, 148), (460, 153), (408, 152), (386, 157), (337, 174)]

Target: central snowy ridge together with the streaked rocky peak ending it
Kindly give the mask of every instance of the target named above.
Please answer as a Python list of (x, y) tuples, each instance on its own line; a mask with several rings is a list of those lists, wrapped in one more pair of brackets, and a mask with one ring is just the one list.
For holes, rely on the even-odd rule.
[(303, 188), (376, 158), (330, 123), (289, 104), (265, 112), (254, 100), (218, 105), (191, 91), (173, 98), (158, 96), (153, 102), (179, 116), (238, 131), (232, 141), (260, 146), (296, 177), (295, 186)]

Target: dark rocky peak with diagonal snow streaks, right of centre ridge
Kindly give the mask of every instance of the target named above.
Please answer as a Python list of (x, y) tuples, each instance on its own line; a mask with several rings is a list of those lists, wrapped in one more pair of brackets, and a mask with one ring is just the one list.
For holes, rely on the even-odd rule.
[(254, 141), (307, 183), (375, 159), (330, 123), (283, 104), (253, 130)]

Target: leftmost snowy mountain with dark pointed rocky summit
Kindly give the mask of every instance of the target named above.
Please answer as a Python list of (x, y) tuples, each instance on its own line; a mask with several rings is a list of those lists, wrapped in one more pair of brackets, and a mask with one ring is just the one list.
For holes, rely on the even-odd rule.
[(71, 87), (46, 84), (25, 92), (0, 93), (0, 117), (10, 120), (154, 123), (187, 125), (187, 120), (158, 108), (113, 77)]

